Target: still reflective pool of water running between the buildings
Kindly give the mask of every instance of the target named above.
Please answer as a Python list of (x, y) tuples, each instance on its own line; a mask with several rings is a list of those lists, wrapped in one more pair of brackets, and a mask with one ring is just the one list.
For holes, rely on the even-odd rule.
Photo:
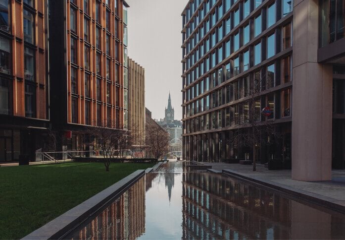
[(345, 239), (345, 216), (168, 162), (68, 239)]

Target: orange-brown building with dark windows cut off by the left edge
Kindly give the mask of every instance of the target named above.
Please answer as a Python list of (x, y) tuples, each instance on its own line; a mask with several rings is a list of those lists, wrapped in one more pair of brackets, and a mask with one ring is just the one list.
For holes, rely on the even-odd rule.
[(46, 145), (47, 16), (45, 0), (0, 0), (0, 161)]

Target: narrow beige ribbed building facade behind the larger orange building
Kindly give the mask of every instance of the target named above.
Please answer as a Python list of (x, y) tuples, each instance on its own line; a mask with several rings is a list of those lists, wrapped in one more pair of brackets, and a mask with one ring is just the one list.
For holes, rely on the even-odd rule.
[(145, 69), (128, 58), (129, 129), (134, 134), (134, 147), (145, 146)]

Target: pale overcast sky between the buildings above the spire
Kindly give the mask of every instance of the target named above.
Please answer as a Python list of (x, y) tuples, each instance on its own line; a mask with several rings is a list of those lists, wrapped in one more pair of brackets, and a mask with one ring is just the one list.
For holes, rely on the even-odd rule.
[(146, 107), (164, 118), (169, 90), (175, 119), (182, 119), (182, 17), (188, 0), (126, 0), (128, 56), (145, 68)]

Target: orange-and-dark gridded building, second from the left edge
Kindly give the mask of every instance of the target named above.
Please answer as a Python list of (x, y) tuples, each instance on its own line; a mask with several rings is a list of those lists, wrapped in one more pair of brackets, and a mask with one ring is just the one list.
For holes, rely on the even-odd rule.
[(87, 126), (128, 129), (127, 7), (49, 1), (50, 113), (65, 149), (85, 150)]

